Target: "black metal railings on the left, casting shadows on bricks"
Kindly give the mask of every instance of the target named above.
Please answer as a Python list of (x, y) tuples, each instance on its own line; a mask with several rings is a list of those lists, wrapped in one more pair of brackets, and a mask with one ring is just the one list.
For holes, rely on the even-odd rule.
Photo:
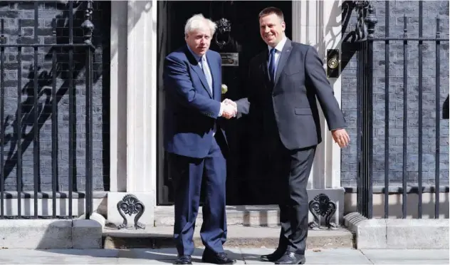
[[(75, 143), (75, 123), (74, 123), (74, 116), (75, 116), (75, 82), (76, 78), (73, 77), (73, 64), (74, 64), (74, 51), (78, 51), (78, 56), (80, 56), (81, 53), (85, 53), (85, 218), (90, 219), (90, 215), (93, 211), (93, 137), (92, 137), (92, 130), (93, 130), (93, 51), (95, 47), (92, 43), (92, 37), (93, 37), (93, 28), (94, 25), (91, 22), (91, 16), (93, 13), (93, 1), (75, 1), (75, 4), (78, 8), (84, 9), (84, 21), (80, 25), (81, 28), (83, 28), (83, 39), (84, 41), (80, 41), (78, 43), (74, 42), (74, 19), (73, 19), (73, 10), (74, 10), (74, 1), (68, 1), (65, 11), (67, 13), (67, 16), (65, 18), (57, 18), (53, 19), (52, 21), (52, 38), (51, 41), (48, 41), (48, 38), (46, 38), (45, 41), (42, 41), (42, 39), (38, 38), (38, 26), (39, 26), (39, 8), (38, 8), (38, 1), (34, 1), (33, 11), (34, 11), (34, 19), (30, 20), (27, 19), (27, 26), (29, 27), (30, 23), (29, 21), (32, 21), (33, 23), (33, 38), (24, 37), (23, 36), (23, 20), (18, 20), (18, 28), (17, 32), (18, 35), (16, 37), (15, 43), (11, 43), (9, 41), (9, 38), (6, 37), (6, 28), (5, 28), (5, 19), (1, 19), (1, 28), (0, 28), (0, 120), (1, 120), (1, 142), (0, 142), (0, 219), (8, 219), (8, 218), (31, 218), (31, 219), (38, 219), (38, 218), (72, 218), (73, 217), (73, 172), (69, 170), (69, 180), (68, 180), (68, 214), (56, 214), (57, 212), (57, 203), (56, 200), (58, 197), (63, 197), (61, 194), (59, 194), (58, 189), (58, 102), (61, 100), (63, 95), (61, 95), (61, 89), (58, 90), (56, 87), (56, 78), (58, 76), (61, 76), (61, 73), (66, 72), (68, 73), (68, 83), (66, 84), (68, 89), (63, 90), (63, 94), (68, 93), (69, 98), (69, 113), (68, 113), (68, 144), (69, 144), (69, 154), (68, 154), (68, 165), (69, 169), (73, 168), (74, 160), (74, 143)], [(59, 21), (58, 21), (59, 20)], [(66, 23), (65, 21), (68, 21), (68, 28), (65, 28), (67, 31), (68, 36), (58, 36), (58, 38), (62, 37), (61, 39), (63, 41), (57, 41), (57, 27), (61, 26), (58, 23), (62, 21), (63, 25)], [(11, 31), (9, 31), (11, 33)], [(28, 98), (32, 99), (32, 102), (28, 101), (27, 103), (23, 103), (23, 90), (25, 89), (22, 87), (22, 58), (24, 56), (23, 49), (24, 48), (32, 48), (33, 53), (33, 67), (30, 73), (30, 76), (33, 81), (29, 82), (28, 84), (31, 86), (33, 90), (33, 93), (31, 95), (28, 95)], [(49, 56), (51, 57), (51, 71), (48, 71), (47, 75), (45, 77), (38, 75), (38, 68), (40, 68), (39, 64), (41, 61), (38, 61), (38, 51), (41, 49), (50, 48)], [(7, 51), (7, 54), (6, 52)], [(11, 55), (11, 51), (16, 51), (16, 58), (17, 63), (6, 63), (5, 58), (6, 55)], [(80, 53), (81, 51), (81, 53)], [(58, 55), (61, 53), (68, 53), (68, 62), (67, 61), (58, 61)], [(17, 73), (17, 110), (16, 110), (16, 122), (14, 124), (14, 142), (16, 142), (16, 155), (14, 155), (14, 161), (16, 163), (16, 187), (17, 187), (17, 212), (18, 214), (16, 216), (8, 216), (5, 214), (5, 199), (6, 197), (11, 198), (11, 194), (8, 192), (5, 192), (5, 178), (6, 175), (6, 162), (4, 160), (5, 155), (5, 117), (4, 117), (4, 111), (5, 111), (5, 93), (6, 93), (6, 86), (5, 86), (5, 70), (13, 70), (11, 69), (11, 65), (16, 66), (16, 73)], [(38, 113), (40, 110), (38, 108), (38, 96), (42, 92), (41, 83), (43, 82), (43, 78), (46, 79), (46, 81), (49, 83), (48, 85), (51, 86), (51, 101), (48, 103), (48, 105), (51, 105), (51, 168), (52, 168), (52, 214), (51, 215), (38, 215), (38, 198), (43, 198), (43, 194), (40, 190), (40, 179), (39, 179), (39, 131), (41, 130), (43, 120), (42, 117)], [(66, 86), (64, 85), (64, 86)], [(13, 97), (14, 98), (14, 97)], [(11, 100), (11, 95), (9, 95), (9, 100)], [(32, 120), (32, 130), (30, 133), (28, 133), (28, 137), (30, 137), (30, 141), (26, 141), (23, 139), (23, 123), (28, 123), (29, 121), (23, 119), (23, 114), (21, 111), (23, 109), (23, 104), (31, 105), (31, 110), (26, 113), (26, 115), (29, 115), (33, 118)], [(63, 113), (64, 114), (64, 113)], [(23, 121), (25, 120), (25, 121)], [(23, 151), (26, 150), (26, 147), (30, 144), (30, 142), (33, 142), (33, 216), (23, 216), (22, 215), (22, 199), (26, 198), (28, 192), (24, 192), (22, 190), (23, 185), (23, 165), (22, 165), (22, 154)], [(66, 161), (64, 161), (66, 162)], [(58, 194), (58, 195), (57, 195)], [(31, 196), (28, 196), (31, 197)]]

